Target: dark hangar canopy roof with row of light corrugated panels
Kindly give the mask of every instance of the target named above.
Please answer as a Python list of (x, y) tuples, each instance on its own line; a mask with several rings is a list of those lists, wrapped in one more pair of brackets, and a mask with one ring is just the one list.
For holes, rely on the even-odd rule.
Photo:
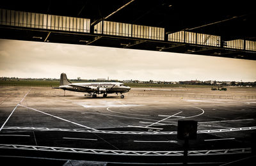
[(256, 60), (256, 14), (250, 3), (124, 0), (41, 4), (1, 3), (0, 38)]

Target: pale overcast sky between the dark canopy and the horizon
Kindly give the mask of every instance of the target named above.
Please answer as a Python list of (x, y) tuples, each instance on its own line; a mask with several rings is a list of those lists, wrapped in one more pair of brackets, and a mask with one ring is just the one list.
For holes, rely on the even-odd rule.
[(256, 61), (146, 50), (0, 40), (0, 77), (256, 81)]

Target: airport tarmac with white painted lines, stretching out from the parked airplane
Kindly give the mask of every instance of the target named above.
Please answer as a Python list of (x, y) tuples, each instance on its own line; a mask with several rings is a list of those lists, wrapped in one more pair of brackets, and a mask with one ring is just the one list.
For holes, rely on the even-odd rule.
[(228, 87), (227, 91), (147, 87), (132, 88), (124, 95), (124, 99), (116, 94), (92, 98), (70, 91), (64, 96), (62, 90), (51, 87), (0, 87), (0, 144), (105, 149), (133, 155), (182, 151), (177, 121), (194, 120), (198, 135), (189, 140), (189, 151), (209, 150), (208, 154), (252, 147), (254, 87)]

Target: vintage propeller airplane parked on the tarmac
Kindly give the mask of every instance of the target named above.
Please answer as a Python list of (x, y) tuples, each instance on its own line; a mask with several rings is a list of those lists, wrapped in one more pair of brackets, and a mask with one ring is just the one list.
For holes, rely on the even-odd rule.
[[(65, 73), (60, 75), (60, 86), (52, 87), (53, 89), (63, 89), (64, 91), (76, 91), (88, 93), (93, 98), (97, 98), (97, 94), (103, 94), (103, 97), (106, 98), (108, 93), (120, 93), (120, 98), (124, 98), (123, 93), (130, 91), (131, 87), (124, 86), (121, 82), (81, 82), (81, 83), (72, 83), (67, 79)], [(84, 94), (86, 96), (86, 94)]]

